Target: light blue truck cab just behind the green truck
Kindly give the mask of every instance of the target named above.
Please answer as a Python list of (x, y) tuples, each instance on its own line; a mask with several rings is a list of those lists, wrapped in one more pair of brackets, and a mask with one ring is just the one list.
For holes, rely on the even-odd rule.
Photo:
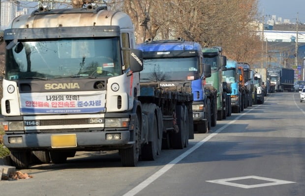
[[(227, 70), (223, 71), (223, 81), (227, 84), (231, 84), (232, 92), (231, 95), (231, 105), (232, 109), (236, 112), (241, 112), (241, 93), (239, 87), (239, 74), (238, 74), (238, 64), (237, 61), (232, 59), (227, 59)], [(234, 111), (232, 110), (232, 111)]]

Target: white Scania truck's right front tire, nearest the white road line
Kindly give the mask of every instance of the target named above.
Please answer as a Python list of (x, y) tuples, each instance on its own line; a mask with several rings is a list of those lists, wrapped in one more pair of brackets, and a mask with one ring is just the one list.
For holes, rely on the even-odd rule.
[(139, 155), (141, 151), (141, 129), (138, 116), (135, 118), (133, 131), (135, 143), (132, 145), (132, 147), (120, 149), (120, 156), (123, 167), (135, 167), (139, 161)]

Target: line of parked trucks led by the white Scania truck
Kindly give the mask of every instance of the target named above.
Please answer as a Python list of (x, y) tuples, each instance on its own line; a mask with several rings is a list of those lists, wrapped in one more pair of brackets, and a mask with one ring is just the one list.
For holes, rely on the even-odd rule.
[(10, 24), (1, 112), (14, 166), (119, 150), (134, 167), (264, 103), (262, 76), (221, 47), (134, 40), (130, 17), (107, 7), (39, 8)]

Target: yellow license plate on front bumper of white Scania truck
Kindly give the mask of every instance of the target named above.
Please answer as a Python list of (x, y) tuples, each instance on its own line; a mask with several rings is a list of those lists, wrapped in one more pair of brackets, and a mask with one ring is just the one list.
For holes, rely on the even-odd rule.
[(52, 148), (76, 147), (76, 134), (51, 135)]

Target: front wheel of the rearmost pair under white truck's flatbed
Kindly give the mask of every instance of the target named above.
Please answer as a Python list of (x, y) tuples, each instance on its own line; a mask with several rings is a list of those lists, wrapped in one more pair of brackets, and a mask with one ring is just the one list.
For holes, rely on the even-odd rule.
[(182, 106), (176, 107), (176, 118), (179, 127), (178, 133), (172, 133), (172, 144), (175, 149), (183, 149), (185, 145), (184, 111)]

